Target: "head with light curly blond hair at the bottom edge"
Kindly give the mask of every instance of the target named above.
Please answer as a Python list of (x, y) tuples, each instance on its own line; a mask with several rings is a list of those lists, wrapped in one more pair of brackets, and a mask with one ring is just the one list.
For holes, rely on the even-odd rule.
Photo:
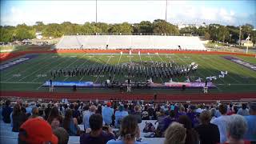
[(186, 128), (178, 122), (173, 122), (165, 132), (164, 144), (184, 144), (186, 141)]

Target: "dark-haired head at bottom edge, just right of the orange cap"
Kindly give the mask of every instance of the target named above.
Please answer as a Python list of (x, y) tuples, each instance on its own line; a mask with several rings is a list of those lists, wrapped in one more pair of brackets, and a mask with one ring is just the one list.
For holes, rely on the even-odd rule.
[(70, 135), (62, 127), (54, 129), (54, 135), (58, 138), (58, 144), (67, 144), (69, 142)]

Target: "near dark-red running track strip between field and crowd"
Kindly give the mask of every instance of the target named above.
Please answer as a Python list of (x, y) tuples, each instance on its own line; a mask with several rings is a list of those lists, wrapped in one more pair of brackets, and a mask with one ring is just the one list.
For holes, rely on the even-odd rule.
[[(154, 98), (153, 94), (128, 94), (128, 93), (93, 93), (82, 94), (74, 93), (50, 93), (50, 92), (16, 92), (1, 91), (1, 97), (20, 97), (20, 98), (42, 98), (50, 101), (57, 101), (62, 98), (70, 100), (145, 100), (150, 101)], [(256, 94), (158, 94), (156, 101), (191, 101), (191, 102), (216, 102), (216, 101), (244, 101), (256, 100)]]

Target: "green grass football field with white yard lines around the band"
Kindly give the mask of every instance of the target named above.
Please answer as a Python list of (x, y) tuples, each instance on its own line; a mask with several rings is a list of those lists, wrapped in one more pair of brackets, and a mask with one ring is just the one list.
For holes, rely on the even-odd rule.
[[(233, 56), (241, 58), (246, 62), (256, 64), (256, 58)], [(190, 74), (190, 82), (194, 82), (198, 77), (206, 78), (220, 74), (220, 70), (228, 71), (225, 78), (214, 80), (217, 89), (210, 90), (212, 93), (229, 93), (229, 92), (256, 92), (256, 72), (246, 67), (240, 66), (234, 62), (230, 62), (222, 55), (208, 54), (38, 54), (38, 57), (23, 62), (16, 66), (1, 70), (1, 90), (13, 91), (48, 91), (48, 88), (42, 87), (42, 83), (51, 78), (50, 70), (57, 68), (86, 67), (89, 65), (116, 65), (123, 62), (143, 62), (158, 61), (169, 62), (174, 61), (178, 64), (185, 65), (191, 62), (198, 64), (198, 70)], [(4, 63), (1, 63), (1, 65)], [(78, 77), (57, 77), (54, 81), (90, 81), (104, 82), (108, 75), (90, 75)], [(115, 75), (114, 80), (125, 81), (127, 78), (121, 75)], [(144, 81), (145, 78), (131, 78), (132, 81)], [(173, 78), (175, 82), (184, 82), (184, 76)], [(168, 82), (167, 78), (159, 78), (154, 83)], [(57, 88), (57, 91), (70, 91), (69, 88)], [(105, 89), (79, 89), (81, 92), (91, 91), (113, 91)], [(137, 90), (139, 91), (139, 90)], [(149, 90), (150, 91), (150, 90)], [(151, 90), (156, 91), (156, 90)], [(158, 90), (159, 91), (159, 90)], [(166, 93), (178, 93), (180, 90), (162, 90)], [(186, 90), (186, 93), (194, 93), (201, 90)], [(147, 90), (148, 92), (148, 90)]]

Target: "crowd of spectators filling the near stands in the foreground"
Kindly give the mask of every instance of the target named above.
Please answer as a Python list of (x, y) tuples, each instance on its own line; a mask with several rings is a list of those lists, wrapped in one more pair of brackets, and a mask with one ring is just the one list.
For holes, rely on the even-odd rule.
[[(165, 144), (247, 144), (256, 142), (256, 102), (190, 104), (172, 102), (1, 101), (2, 122), (18, 142), (146, 144), (138, 123), (155, 120), (151, 137)], [(83, 130), (79, 125), (83, 125)], [(146, 124), (146, 126), (150, 126)], [(148, 130), (148, 129), (146, 129)], [(144, 131), (144, 130), (143, 130)], [(41, 138), (42, 137), (42, 138)]]

